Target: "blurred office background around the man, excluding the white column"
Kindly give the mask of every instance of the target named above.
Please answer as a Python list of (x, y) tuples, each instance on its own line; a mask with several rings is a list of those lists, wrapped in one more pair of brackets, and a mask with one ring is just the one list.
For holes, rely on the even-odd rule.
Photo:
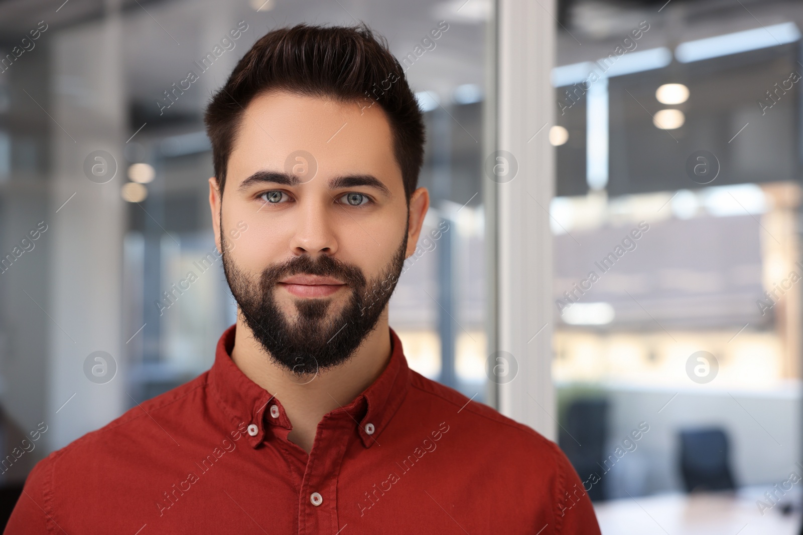
[[(803, 2), (538, 9), (556, 26), (554, 121), (531, 138), (556, 154), (556, 438), (606, 535), (797, 533)], [(415, 370), (499, 406), (493, 2), (0, 0), (5, 505), (48, 452), (210, 367), (234, 322), (219, 261), (163, 295), (214, 249), (203, 107), (268, 30), (357, 20), (428, 132), (432, 208), (391, 326)]]

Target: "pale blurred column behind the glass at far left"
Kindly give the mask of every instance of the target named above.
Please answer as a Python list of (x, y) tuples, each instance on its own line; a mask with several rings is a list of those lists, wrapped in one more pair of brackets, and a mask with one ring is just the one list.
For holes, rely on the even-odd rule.
[[(53, 321), (45, 435), (51, 449), (102, 427), (128, 403), (121, 355), (132, 333), (120, 329), (126, 208), (120, 197), (126, 180), (123, 28), (113, 11), (100, 22), (52, 37), (48, 111), (56, 124), (47, 224), (54, 244), (48, 310)], [(105, 184), (84, 173), (84, 160), (98, 150), (116, 160), (116, 176)], [(116, 360), (116, 376), (108, 383), (93, 383), (84, 373), (84, 361), (94, 351), (106, 351)]]

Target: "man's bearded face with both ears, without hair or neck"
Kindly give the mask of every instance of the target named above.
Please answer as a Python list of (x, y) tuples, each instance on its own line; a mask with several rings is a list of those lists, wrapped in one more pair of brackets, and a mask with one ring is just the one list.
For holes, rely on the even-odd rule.
[(385, 311), (428, 205), (419, 188), (410, 225), (384, 111), (260, 95), (243, 114), (222, 200), (215, 185), (226, 280), (257, 342), (297, 375), (344, 363)]

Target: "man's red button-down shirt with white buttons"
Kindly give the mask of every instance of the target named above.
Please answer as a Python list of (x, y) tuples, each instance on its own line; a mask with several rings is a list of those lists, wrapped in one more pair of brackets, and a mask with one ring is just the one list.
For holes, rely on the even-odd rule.
[(230, 327), (210, 371), (39, 462), (5, 533), (600, 533), (556, 444), (410, 370), (390, 337), (308, 455)]

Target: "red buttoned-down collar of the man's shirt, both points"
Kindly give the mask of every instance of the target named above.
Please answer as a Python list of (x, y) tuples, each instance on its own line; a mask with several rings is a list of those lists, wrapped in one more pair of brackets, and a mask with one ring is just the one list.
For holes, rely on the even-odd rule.
[[(236, 429), (243, 433), (251, 446), (256, 448), (262, 444), (268, 425), (290, 429), (291, 424), (280, 397), (272, 395), (254, 383), (231, 359), (236, 327), (236, 324), (230, 326), (218, 340), (214, 364), (209, 371), (207, 382), (222, 411), (230, 419), (233, 425), (232, 431)], [(402, 404), (410, 387), (410, 368), (404, 356), (402, 341), (392, 328), (388, 328), (392, 351), (385, 370), (351, 403), (338, 407), (324, 416), (324, 418), (337, 417), (348, 413), (350, 419), (359, 422), (357, 432), (365, 448), (377, 444), (377, 436), (385, 429)], [(271, 415), (273, 405), (278, 408), (276, 417)], [(273, 414), (276, 414), (275, 409)], [(247, 430), (251, 424), (257, 427), (254, 436)], [(357, 427), (356, 423), (354, 425)]]

